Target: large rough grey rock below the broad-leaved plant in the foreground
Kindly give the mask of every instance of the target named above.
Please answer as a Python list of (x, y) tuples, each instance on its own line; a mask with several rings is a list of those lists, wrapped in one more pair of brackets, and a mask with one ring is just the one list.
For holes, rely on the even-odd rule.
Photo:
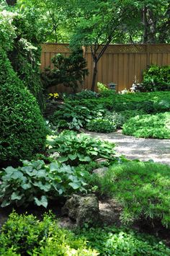
[(76, 221), (77, 226), (95, 224), (99, 218), (99, 201), (93, 194), (73, 195), (66, 201), (62, 213)]

